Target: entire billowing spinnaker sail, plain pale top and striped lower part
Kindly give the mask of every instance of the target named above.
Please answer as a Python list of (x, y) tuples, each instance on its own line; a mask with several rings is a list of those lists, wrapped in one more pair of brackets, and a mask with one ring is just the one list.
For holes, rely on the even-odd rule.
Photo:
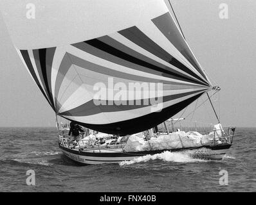
[(2, 0), (0, 6), (51, 108), (90, 129), (143, 131), (212, 89), (164, 1)]

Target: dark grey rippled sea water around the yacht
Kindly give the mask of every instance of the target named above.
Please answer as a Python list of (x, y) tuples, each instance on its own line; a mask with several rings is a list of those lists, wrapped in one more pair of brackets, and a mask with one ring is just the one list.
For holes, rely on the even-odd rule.
[[(2, 127), (0, 192), (255, 192), (255, 135), (256, 128), (237, 128), (221, 161), (185, 151), (80, 166), (60, 151), (56, 128)], [(29, 170), (34, 186), (27, 183)]]

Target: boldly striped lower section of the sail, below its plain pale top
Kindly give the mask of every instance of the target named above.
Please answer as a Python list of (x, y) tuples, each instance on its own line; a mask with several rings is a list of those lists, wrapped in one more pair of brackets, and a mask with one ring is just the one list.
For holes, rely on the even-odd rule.
[[(58, 115), (105, 133), (149, 129), (212, 87), (169, 12), (103, 37), (19, 53)], [(109, 78), (125, 85), (163, 83), (163, 110), (152, 112), (151, 104), (95, 105), (93, 86)]]

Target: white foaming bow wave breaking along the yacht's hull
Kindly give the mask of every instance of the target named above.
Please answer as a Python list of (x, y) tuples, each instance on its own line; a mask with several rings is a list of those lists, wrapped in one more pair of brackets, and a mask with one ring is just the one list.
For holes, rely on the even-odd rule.
[(131, 165), (133, 163), (147, 162), (150, 160), (163, 160), (168, 162), (172, 161), (172, 162), (179, 162), (179, 163), (194, 163), (194, 162), (208, 161), (208, 160), (192, 158), (191, 151), (184, 151), (184, 152), (165, 151), (160, 154), (154, 154), (154, 155), (148, 154), (145, 156), (140, 156), (131, 161), (121, 161), (119, 165), (120, 166)]

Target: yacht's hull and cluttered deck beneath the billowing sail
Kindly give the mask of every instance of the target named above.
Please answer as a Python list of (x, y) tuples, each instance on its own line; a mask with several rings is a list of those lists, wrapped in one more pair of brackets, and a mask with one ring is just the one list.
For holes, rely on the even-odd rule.
[[(170, 119), (173, 120), (173, 119)], [(168, 122), (169, 120), (167, 120)], [(167, 122), (163, 122), (165, 124)], [(68, 129), (69, 130), (69, 129)], [(77, 140), (71, 140), (67, 129), (59, 127), (59, 147), (69, 159), (82, 164), (120, 163), (161, 152), (187, 152), (192, 158), (222, 160), (231, 147), (235, 127), (221, 124), (206, 135), (196, 131), (153, 131), (116, 136), (85, 129)]]

